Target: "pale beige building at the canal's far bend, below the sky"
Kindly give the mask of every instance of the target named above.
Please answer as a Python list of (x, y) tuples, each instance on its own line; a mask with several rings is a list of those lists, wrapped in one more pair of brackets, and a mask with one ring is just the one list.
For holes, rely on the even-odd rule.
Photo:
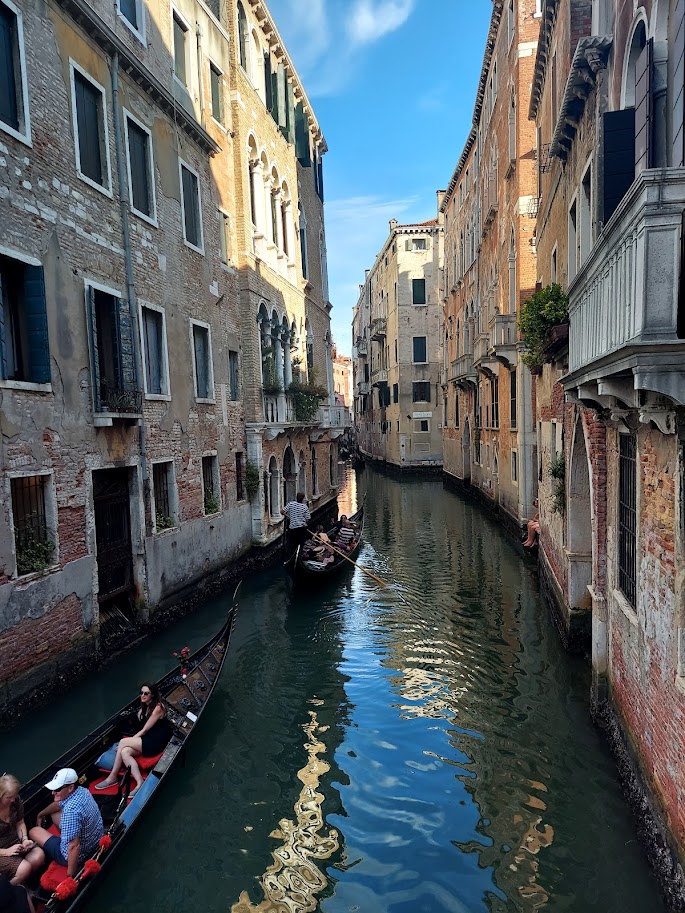
[(391, 220), (354, 311), (357, 445), (398, 469), (442, 465), (441, 221)]

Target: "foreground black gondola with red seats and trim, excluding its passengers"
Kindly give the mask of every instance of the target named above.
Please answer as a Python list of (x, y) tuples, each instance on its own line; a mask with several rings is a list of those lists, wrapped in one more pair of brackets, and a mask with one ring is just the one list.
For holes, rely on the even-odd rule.
[(157, 682), (166, 706), (167, 719), (171, 723), (172, 736), (157, 759), (138, 758), (139, 763), (143, 762), (140, 763), (140, 768), (145, 780), (135, 796), (129, 797), (131, 776), (127, 769), (118, 786), (111, 787), (111, 790), (96, 792), (94, 786), (104, 779), (107, 768), (111, 768), (111, 762), (107, 765), (103, 764), (103, 760), (108, 749), (113, 757), (112, 746), (120, 737), (122, 720), (127, 716), (130, 718), (132, 712), (135, 713), (139, 706), (138, 699), (127, 704), (22, 787), (20, 795), (24, 803), (25, 820), (31, 826), (38, 811), (49, 801), (45, 784), (57, 770), (71, 767), (79, 774), (79, 784), (89, 788), (95, 796), (105, 827), (105, 836), (100, 841), (99, 848), (92, 859), (86, 860), (74, 879), (67, 879), (66, 868), (54, 862), (41, 875), (40, 887), (35, 891), (32, 889), (37, 911), (74, 913), (81, 909), (97, 889), (104, 871), (110, 868), (117, 852), (126, 843), (144, 809), (159, 792), (162, 781), (181, 757), (188, 738), (195, 731), (219, 680), (235, 624), (237, 593), (238, 588), (233, 594), (231, 609), (221, 630), (194, 653), (186, 656), (182, 651), (177, 669)]

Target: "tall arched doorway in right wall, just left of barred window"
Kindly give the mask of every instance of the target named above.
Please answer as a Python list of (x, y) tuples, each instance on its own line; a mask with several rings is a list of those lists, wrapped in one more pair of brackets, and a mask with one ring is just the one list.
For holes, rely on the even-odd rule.
[(592, 583), (592, 506), (590, 471), (583, 423), (576, 422), (567, 486), (568, 518), (568, 604), (572, 609), (589, 609)]

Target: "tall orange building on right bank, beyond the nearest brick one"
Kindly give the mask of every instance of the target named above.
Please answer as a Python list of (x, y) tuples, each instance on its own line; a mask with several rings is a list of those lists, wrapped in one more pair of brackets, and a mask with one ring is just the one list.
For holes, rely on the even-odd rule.
[(535, 0), (493, 4), (472, 127), (440, 203), (445, 225), (444, 472), (512, 525), (532, 515), (535, 436), (517, 314), (534, 290)]

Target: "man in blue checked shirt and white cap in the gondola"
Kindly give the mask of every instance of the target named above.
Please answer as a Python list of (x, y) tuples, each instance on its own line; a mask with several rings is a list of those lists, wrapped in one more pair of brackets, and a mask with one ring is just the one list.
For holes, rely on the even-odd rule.
[(52, 792), (53, 801), (38, 812), (37, 820), (49, 815), (60, 836), (43, 827), (32, 827), (30, 836), (48, 859), (66, 866), (67, 877), (73, 878), (97, 849), (104, 829), (102, 815), (88, 790), (78, 785), (78, 774), (71, 767), (58, 770), (45, 788)]

